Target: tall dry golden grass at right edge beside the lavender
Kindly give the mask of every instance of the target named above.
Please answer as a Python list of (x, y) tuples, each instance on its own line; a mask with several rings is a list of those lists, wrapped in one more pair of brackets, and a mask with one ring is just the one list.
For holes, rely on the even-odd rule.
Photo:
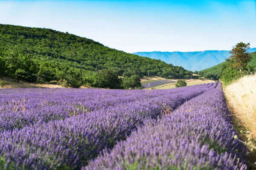
[[(244, 76), (224, 88), (234, 127), (247, 145), (248, 169), (256, 169), (256, 74)], [(247, 133), (245, 133), (247, 132)]]

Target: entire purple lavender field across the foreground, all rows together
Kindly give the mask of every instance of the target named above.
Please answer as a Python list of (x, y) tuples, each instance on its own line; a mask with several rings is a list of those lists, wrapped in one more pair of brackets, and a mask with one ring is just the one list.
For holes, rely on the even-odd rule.
[(245, 170), (221, 83), (0, 89), (0, 169)]

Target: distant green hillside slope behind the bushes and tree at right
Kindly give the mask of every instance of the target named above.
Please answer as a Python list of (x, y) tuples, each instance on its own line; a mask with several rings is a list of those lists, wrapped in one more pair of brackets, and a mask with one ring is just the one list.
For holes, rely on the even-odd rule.
[[(250, 68), (256, 68), (256, 52), (253, 52), (253, 53), (250, 53), (250, 55), (252, 56), (252, 60), (250, 62), (248, 62), (248, 67)], [(222, 66), (225, 64), (226, 62), (222, 62), (218, 65), (215, 65), (211, 68), (207, 68), (207, 69), (204, 69), (202, 71), (198, 71), (198, 73), (201, 75), (201, 76), (204, 76), (206, 78), (215, 78), (215, 79), (219, 79), (219, 74), (221, 73), (221, 69), (222, 69)]]

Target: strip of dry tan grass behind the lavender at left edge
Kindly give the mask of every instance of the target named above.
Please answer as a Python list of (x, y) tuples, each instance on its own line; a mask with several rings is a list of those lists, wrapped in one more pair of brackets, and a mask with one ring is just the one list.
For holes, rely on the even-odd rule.
[(6, 85), (0, 85), (0, 88), (63, 88), (61, 87), (61, 85), (35, 84), (23, 81), (17, 83), (14, 80), (7, 77), (1, 77), (0, 80), (6, 82)]

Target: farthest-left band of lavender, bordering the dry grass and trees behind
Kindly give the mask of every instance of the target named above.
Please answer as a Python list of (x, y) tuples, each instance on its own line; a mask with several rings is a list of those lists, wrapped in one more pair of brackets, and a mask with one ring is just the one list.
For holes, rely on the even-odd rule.
[[(180, 92), (183, 90), (170, 90), (169, 95)], [(64, 120), (133, 102), (150, 103), (165, 95), (166, 91), (4, 89), (0, 90), (0, 131), (21, 129), (36, 122)]]

